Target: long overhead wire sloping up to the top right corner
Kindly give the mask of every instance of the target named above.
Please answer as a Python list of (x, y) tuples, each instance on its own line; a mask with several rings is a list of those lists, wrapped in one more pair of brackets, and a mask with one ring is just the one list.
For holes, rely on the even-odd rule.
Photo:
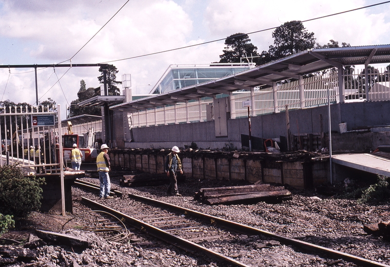
[[(306, 19), (306, 20), (300, 20), (298, 22), (288, 23), (288, 24), (283, 25), (283, 26), (289, 26), (289, 25), (294, 25), (294, 24), (298, 24), (298, 23), (308, 22), (308, 21), (312, 21), (312, 20), (316, 20), (316, 19), (320, 19), (320, 18), (328, 18), (328, 17), (332, 17), (332, 16), (336, 16), (336, 15), (340, 15), (340, 14), (344, 14), (344, 13), (348, 13), (348, 12), (352, 12), (352, 11), (356, 11), (356, 10), (360, 10), (360, 9), (365, 9), (365, 8), (369, 8), (369, 7), (373, 7), (373, 6), (377, 6), (377, 5), (386, 4), (386, 3), (389, 3), (389, 2), (390, 1), (380, 2), (380, 3), (368, 5), (368, 6), (358, 7), (358, 8), (355, 8), (355, 9), (350, 9), (350, 10), (346, 10), (346, 11), (342, 11), (342, 12), (338, 12), (338, 13), (333, 13), (333, 14), (330, 14), (330, 15), (317, 17), (317, 18), (310, 18), (310, 19)], [(267, 28), (267, 29), (263, 29), (263, 30), (259, 30), (259, 31), (254, 31), (254, 32), (250, 32), (250, 33), (246, 33), (246, 34), (242, 34), (242, 35), (236, 35), (234, 37), (251, 35), (251, 34), (261, 33), (261, 32), (266, 32), (266, 31), (273, 30), (273, 29), (276, 29), (276, 28), (279, 28), (279, 27), (281, 27), (281, 26), (275, 26), (275, 27), (271, 27), (271, 28)], [(181, 49), (185, 49), (185, 48), (190, 48), (190, 47), (195, 47), (195, 46), (199, 46), (199, 45), (204, 45), (204, 44), (209, 44), (209, 43), (223, 41), (223, 40), (226, 40), (228, 38), (229, 37), (227, 37), (227, 38), (220, 38), (220, 39), (216, 39), (216, 40), (212, 40), (212, 41), (207, 41), (207, 42), (203, 42), (203, 43), (199, 43), (199, 44), (193, 44), (193, 45), (173, 48), (173, 49), (159, 51), (159, 52), (155, 52), (155, 53), (148, 53), (148, 54), (143, 54), (143, 55), (126, 57), (126, 58), (122, 58), (122, 59), (116, 59), (116, 60), (111, 60), (111, 61), (100, 62), (99, 64), (123, 61), (123, 60), (127, 60), (127, 59), (134, 59), (134, 58), (144, 57), (144, 56), (148, 56), (148, 55), (154, 55), (154, 54), (159, 54), (159, 53), (166, 53), (166, 52), (181, 50)]]

